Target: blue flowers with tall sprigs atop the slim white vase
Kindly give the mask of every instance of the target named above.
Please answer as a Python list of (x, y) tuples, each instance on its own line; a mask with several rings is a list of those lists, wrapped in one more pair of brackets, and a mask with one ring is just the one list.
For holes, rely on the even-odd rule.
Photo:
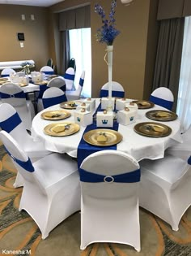
[(109, 19), (105, 18), (105, 12), (103, 7), (96, 3), (95, 12), (100, 15), (103, 26), (97, 30), (97, 40), (101, 43), (106, 43), (108, 46), (112, 46), (114, 39), (120, 33), (116, 28), (116, 20), (114, 19), (115, 8), (117, 7), (117, 0), (112, 0), (111, 2), (111, 11), (109, 12)]

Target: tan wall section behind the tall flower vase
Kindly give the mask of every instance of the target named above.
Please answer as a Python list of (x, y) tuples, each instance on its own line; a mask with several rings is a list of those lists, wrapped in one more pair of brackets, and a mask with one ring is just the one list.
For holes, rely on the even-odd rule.
[[(108, 67), (104, 62), (105, 44), (96, 41), (96, 30), (101, 26), (100, 16), (94, 11), (99, 2), (110, 11), (110, 1), (91, 0), (91, 54), (92, 97), (108, 81)], [(87, 4), (86, 0), (66, 0), (51, 7), (51, 11), (67, 10)], [(129, 7), (117, 1), (116, 20), (121, 34), (114, 41), (112, 80), (125, 89), (125, 97), (148, 98), (151, 93), (158, 27), (156, 10), (158, 0), (134, 0)]]

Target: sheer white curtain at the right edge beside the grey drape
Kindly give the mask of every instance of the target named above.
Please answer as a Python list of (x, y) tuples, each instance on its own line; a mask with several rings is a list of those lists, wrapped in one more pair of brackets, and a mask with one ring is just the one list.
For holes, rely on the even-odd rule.
[(191, 124), (191, 16), (185, 18), (185, 33), (176, 113), (180, 118), (181, 132), (185, 132)]

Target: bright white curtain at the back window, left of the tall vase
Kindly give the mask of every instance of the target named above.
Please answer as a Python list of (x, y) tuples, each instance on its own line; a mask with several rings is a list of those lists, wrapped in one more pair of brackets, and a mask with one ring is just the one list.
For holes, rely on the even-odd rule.
[(91, 28), (70, 29), (69, 38), (70, 58), (74, 58), (76, 64), (75, 88), (78, 88), (79, 78), (84, 70), (82, 96), (91, 98)]

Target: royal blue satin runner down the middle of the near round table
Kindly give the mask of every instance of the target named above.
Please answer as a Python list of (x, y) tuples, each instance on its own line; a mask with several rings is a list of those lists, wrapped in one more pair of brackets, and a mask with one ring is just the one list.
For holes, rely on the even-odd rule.
[[(101, 104), (98, 106), (97, 111), (101, 110)], [(94, 115), (96, 115), (96, 113)], [(118, 127), (119, 124), (117, 122), (113, 122), (113, 130), (118, 131)], [(85, 131), (83, 132), (86, 133), (90, 130), (94, 130), (98, 128), (96, 126), (96, 120), (94, 119), (93, 124), (87, 125), (87, 128), (85, 129)], [(108, 129), (111, 129), (110, 127), (108, 127)], [(81, 163), (83, 162), (83, 159), (87, 158), (88, 155), (93, 154), (97, 151), (100, 150), (117, 150), (117, 145), (108, 145), (108, 146), (97, 146), (97, 145), (89, 145), (86, 141), (83, 140), (83, 136), (81, 138), (81, 141), (79, 142), (79, 146), (78, 146), (78, 151), (77, 151), (77, 155), (78, 155), (78, 167), (80, 167)]]

